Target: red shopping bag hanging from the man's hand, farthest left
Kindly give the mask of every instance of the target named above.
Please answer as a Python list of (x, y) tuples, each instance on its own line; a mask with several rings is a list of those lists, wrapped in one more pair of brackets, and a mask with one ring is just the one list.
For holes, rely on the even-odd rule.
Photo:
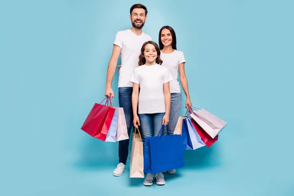
[[(106, 99), (106, 103), (101, 104)], [(106, 140), (115, 109), (106, 105), (110, 98), (104, 98), (101, 103), (95, 103), (81, 129), (94, 138)], [(111, 100), (110, 100), (111, 101)]]

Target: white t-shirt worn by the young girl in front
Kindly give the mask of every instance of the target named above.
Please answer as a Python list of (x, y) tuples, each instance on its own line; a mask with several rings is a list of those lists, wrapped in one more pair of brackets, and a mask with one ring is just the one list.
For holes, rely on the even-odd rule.
[(139, 114), (155, 114), (166, 111), (163, 84), (171, 80), (171, 74), (162, 65), (142, 65), (135, 68), (130, 81), (140, 85)]

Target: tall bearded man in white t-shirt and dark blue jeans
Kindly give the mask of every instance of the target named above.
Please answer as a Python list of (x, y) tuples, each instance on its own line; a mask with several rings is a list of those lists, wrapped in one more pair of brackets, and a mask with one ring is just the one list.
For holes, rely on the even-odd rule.
[[(134, 4), (130, 8), (130, 21), (132, 27), (127, 30), (119, 31), (116, 34), (112, 56), (107, 70), (105, 96), (114, 97), (111, 88), (112, 79), (116, 71), (118, 58), (122, 57), (122, 66), (119, 74), (119, 103), (123, 107), (127, 132), (130, 136), (133, 127), (132, 91), (133, 83), (130, 82), (132, 73), (138, 67), (139, 55), (142, 45), (151, 40), (151, 37), (142, 31), (147, 20), (147, 8), (142, 4)], [(119, 141), (119, 164), (114, 170), (114, 176), (120, 176), (125, 170), (128, 156), (129, 140)]]

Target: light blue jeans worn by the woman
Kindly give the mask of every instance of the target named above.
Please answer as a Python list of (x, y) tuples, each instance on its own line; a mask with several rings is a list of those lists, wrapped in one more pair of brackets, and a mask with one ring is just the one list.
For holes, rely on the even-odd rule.
[[(175, 129), (176, 123), (180, 116), (182, 106), (182, 96), (180, 93), (171, 93), (171, 109), (170, 109), (170, 122), (169, 126), (171, 129), (171, 132), (173, 134), (173, 131)], [(166, 127), (165, 127), (166, 130)], [(166, 131), (165, 131), (166, 134)], [(168, 132), (170, 135), (170, 133)]]

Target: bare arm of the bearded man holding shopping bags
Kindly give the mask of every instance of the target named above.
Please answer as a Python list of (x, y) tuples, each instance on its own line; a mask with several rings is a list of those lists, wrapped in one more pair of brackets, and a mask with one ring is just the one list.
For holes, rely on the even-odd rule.
[(107, 97), (110, 97), (110, 94), (112, 97), (114, 97), (114, 93), (111, 88), (111, 83), (112, 83), (112, 79), (116, 70), (116, 66), (117, 66), (121, 51), (122, 51), (121, 47), (117, 45), (113, 45), (112, 55), (108, 64), (108, 69), (107, 69), (106, 88), (105, 88), (105, 96)]

